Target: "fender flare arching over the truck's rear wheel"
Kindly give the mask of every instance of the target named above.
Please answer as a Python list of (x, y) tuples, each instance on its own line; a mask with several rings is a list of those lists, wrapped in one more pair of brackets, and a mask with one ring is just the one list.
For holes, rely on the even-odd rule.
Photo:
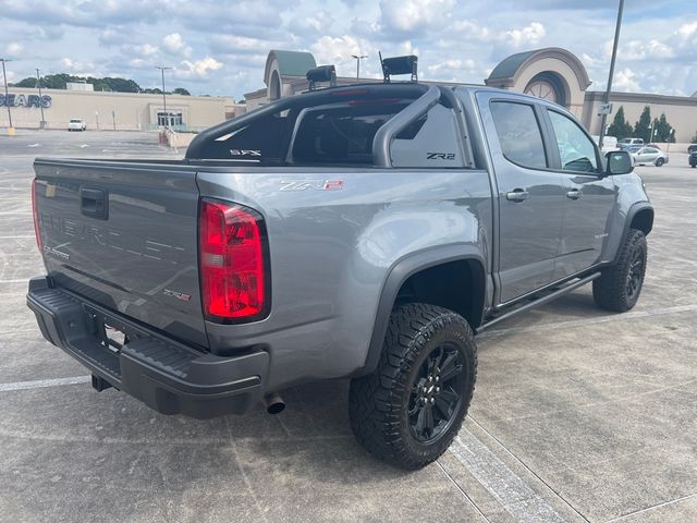
[[(388, 330), (388, 324), (390, 321), (390, 315), (392, 314), (392, 308), (396, 301), (398, 293), (404, 282), (411, 276), (424, 269), (448, 264), (450, 262), (470, 262), (474, 263), (475, 267), (478, 269), (479, 273), (474, 275), (477, 289), (473, 293), (472, 299), (475, 301), (476, 311), (478, 311), (477, 317), (479, 318), (479, 324), (481, 323), (485, 307), (487, 271), (485, 269), (485, 257), (479, 248), (475, 245), (444, 245), (407, 255), (392, 266), (384, 284), (382, 285), (375, 324), (372, 326), (370, 345), (366, 355), (366, 362), (364, 367), (356, 373), (356, 376), (371, 374), (377, 368), (380, 360), (380, 353), (382, 352), (384, 336)], [(473, 330), (478, 326), (479, 325), (473, 325)]]

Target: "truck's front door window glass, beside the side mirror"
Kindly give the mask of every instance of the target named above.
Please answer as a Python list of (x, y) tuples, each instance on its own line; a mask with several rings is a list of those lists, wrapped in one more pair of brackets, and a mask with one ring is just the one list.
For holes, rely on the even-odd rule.
[(598, 172), (598, 159), (592, 141), (571, 118), (548, 110), (562, 170), (575, 172)]

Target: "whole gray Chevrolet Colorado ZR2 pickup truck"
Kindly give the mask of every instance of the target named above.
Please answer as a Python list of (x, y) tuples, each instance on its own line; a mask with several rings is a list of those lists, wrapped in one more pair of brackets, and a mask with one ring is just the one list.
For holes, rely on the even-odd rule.
[(639, 296), (653, 209), (626, 153), (486, 87), (331, 87), (200, 133), (176, 161), (39, 158), (48, 341), (164, 414), (283, 408), (351, 378), (358, 441), (405, 469), (466, 415), (474, 333), (592, 282)]

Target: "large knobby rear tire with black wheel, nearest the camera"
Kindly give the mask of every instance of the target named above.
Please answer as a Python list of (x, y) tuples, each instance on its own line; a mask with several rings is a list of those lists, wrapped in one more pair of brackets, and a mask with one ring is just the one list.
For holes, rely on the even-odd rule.
[[(431, 363), (441, 357), (440, 364), (432, 367), (432, 374), (436, 374), (433, 379), (440, 378), (441, 370), (438, 368), (442, 365), (444, 369), (447, 365), (443, 364), (450, 356), (456, 358), (457, 374), (447, 381), (443, 373), (441, 384), (454, 385), (443, 385), (443, 391), (436, 392), (442, 396), (437, 396), (435, 403), (431, 402), (431, 426), (433, 419), (444, 412), (441, 401), (445, 401), (445, 392), (449, 397), (453, 391), (458, 394), (457, 406), (454, 406), (454, 402), (450, 403), (448, 412), (451, 415), (447, 421), (437, 422), (436, 430), (440, 428), (440, 433), (432, 436), (432, 440), (419, 440), (412, 425), (412, 419), (418, 414), (409, 415), (409, 411), (417, 408), (416, 399), (428, 400), (415, 396), (416, 390), (426, 394), (429, 384), (424, 376), (425, 368), (430, 369)], [(426, 374), (430, 376), (431, 370)], [(472, 401), (476, 375), (477, 350), (472, 328), (465, 318), (435, 305), (402, 305), (392, 312), (375, 373), (351, 381), (351, 428), (358, 442), (377, 458), (401, 469), (421, 469), (445, 452), (457, 435)], [(430, 389), (436, 390), (433, 387)], [(433, 428), (430, 434), (433, 435)]]

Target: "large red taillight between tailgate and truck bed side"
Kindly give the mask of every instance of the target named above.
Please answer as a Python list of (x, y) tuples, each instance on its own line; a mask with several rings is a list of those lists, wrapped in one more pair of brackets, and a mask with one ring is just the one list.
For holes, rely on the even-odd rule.
[(204, 199), (200, 206), (204, 309), (222, 320), (265, 312), (262, 219), (246, 207)]

